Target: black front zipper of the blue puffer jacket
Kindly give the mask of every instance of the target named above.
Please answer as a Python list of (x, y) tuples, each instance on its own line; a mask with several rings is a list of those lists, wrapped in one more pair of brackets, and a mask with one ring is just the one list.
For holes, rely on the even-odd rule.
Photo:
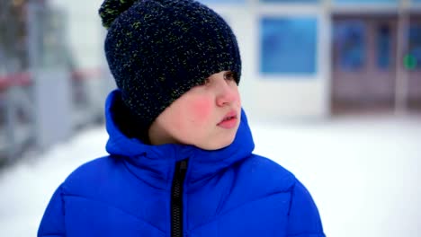
[(183, 237), (183, 184), (187, 171), (187, 159), (176, 162), (171, 189), (171, 236)]

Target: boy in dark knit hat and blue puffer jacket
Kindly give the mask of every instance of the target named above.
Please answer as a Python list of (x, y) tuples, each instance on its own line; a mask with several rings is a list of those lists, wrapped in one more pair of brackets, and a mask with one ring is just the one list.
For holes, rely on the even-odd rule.
[(106, 157), (57, 189), (39, 236), (325, 236), (307, 189), (256, 154), (228, 24), (193, 0), (105, 0)]

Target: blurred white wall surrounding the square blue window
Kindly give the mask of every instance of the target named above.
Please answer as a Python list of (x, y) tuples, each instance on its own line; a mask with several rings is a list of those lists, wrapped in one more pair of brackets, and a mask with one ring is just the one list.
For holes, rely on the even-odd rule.
[[(240, 92), (249, 118), (267, 121), (307, 120), (326, 118), (330, 114), (330, 17), (323, 6), (218, 4), (210, 7), (227, 19), (237, 35), (243, 60)], [(264, 15), (318, 18), (318, 56), (315, 75), (303, 77), (259, 74), (258, 22)]]

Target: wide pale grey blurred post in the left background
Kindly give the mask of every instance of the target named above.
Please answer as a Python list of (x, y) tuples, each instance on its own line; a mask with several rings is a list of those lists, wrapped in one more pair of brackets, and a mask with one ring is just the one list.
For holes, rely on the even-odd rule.
[[(70, 79), (63, 60), (64, 19), (55, 17), (64, 16), (55, 8), (28, 4), (34, 131), (40, 149), (47, 149), (72, 134)], [(46, 37), (55, 40), (46, 43)]]

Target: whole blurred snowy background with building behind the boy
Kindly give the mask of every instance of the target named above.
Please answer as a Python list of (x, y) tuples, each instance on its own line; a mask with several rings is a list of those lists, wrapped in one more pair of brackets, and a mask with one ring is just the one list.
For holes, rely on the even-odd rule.
[[(102, 0), (0, 0), (0, 236), (105, 155)], [(237, 35), (257, 154), (306, 184), (327, 236), (421, 236), (421, 0), (202, 0)]]

